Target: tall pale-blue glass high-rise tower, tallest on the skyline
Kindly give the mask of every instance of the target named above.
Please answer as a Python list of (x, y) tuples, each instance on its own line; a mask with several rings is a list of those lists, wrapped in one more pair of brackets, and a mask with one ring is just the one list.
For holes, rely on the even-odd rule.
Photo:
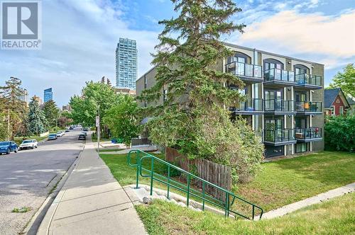
[(116, 86), (136, 90), (137, 80), (136, 40), (120, 38), (116, 48)]

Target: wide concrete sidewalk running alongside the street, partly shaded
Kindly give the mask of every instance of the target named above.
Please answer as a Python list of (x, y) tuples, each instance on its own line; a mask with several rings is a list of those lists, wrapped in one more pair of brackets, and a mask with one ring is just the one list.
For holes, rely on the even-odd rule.
[(91, 138), (38, 234), (147, 234), (133, 203), (99, 158)]

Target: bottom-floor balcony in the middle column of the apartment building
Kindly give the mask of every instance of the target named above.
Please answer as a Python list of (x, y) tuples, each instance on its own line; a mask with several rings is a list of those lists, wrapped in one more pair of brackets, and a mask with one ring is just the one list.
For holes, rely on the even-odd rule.
[(280, 146), (285, 144), (295, 144), (295, 129), (275, 129), (263, 130), (264, 144)]

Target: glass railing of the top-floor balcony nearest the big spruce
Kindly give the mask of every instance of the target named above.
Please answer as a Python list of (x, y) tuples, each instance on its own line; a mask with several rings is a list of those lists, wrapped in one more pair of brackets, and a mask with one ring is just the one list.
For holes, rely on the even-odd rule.
[(230, 62), (226, 64), (226, 71), (236, 76), (250, 76), (262, 79), (261, 66), (242, 62)]

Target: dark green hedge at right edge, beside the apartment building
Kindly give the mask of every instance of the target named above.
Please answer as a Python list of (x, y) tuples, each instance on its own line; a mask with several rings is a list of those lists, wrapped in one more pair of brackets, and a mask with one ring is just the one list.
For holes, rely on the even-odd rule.
[(324, 149), (331, 151), (355, 151), (355, 114), (326, 117), (324, 125)]

